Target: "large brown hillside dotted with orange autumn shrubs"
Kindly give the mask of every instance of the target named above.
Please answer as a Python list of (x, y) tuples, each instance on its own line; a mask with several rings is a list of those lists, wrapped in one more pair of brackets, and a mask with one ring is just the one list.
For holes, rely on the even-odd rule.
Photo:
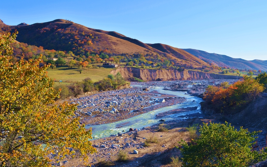
[[(184, 68), (201, 68), (207, 63), (192, 55), (179, 51), (158, 50), (137, 39), (132, 39), (114, 31), (103, 31), (88, 28), (80, 24), (57, 19), (46, 23), (27, 25), (21, 23), (18, 26), (0, 24), (0, 31), (19, 31), (17, 40), (28, 45), (42, 46), (47, 50), (71, 51), (74, 55), (88, 57), (88, 55), (106, 54), (109, 57), (123, 55), (131, 61), (133, 58), (144, 57), (146, 61), (163, 64), (168, 60), (167, 66)], [(173, 52), (175, 50), (175, 53)], [(140, 61), (139, 61), (140, 62)], [(162, 66), (162, 65), (161, 65)]]

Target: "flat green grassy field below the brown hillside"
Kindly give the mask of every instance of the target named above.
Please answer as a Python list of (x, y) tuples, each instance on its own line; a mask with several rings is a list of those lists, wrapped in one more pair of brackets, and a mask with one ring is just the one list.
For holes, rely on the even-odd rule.
[(50, 79), (55, 79), (56, 81), (61, 80), (62, 82), (80, 82), (85, 78), (92, 79), (93, 82), (104, 79), (110, 74), (109, 72), (113, 68), (83, 68), (82, 73), (80, 74), (78, 66), (72, 67), (69, 69), (68, 66), (57, 66), (56, 69), (48, 68), (48, 77)]

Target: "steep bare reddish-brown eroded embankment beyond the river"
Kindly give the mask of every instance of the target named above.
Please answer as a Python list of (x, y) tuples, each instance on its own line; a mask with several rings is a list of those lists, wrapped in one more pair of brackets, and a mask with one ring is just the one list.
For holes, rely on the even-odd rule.
[(168, 80), (188, 80), (188, 79), (240, 79), (243, 77), (210, 74), (200, 71), (177, 71), (177, 70), (154, 70), (154, 69), (138, 69), (138, 68), (119, 68), (110, 71), (115, 75), (120, 72), (124, 78), (136, 77), (144, 81), (168, 81)]

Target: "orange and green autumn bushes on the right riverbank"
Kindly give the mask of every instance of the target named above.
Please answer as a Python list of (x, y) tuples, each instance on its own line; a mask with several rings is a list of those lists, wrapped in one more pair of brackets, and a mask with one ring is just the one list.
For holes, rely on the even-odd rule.
[(251, 76), (244, 76), (244, 79), (230, 86), (225, 84), (219, 87), (208, 86), (204, 97), (206, 101), (201, 106), (212, 108), (215, 112), (221, 113), (238, 112), (246, 104), (258, 97), (263, 90), (262, 84)]

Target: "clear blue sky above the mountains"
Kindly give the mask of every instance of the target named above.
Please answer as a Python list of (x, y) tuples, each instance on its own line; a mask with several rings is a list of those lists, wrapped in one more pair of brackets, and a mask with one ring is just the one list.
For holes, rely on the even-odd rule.
[(116, 31), (144, 43), (267, 60), (265, 0), (24, 0), (1, 2), (8, 25), (55, 19)]

